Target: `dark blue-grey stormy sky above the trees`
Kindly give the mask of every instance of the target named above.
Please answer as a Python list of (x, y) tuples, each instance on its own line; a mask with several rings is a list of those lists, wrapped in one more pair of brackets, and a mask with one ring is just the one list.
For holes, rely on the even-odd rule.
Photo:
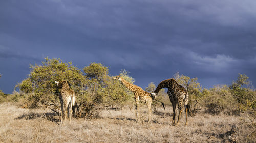
[(92, 62), (136, 85), (176, 72), (203, 87), (256, 83), (256, 1), (0, 1), (0, 89), (12, 93), (44, 57)]

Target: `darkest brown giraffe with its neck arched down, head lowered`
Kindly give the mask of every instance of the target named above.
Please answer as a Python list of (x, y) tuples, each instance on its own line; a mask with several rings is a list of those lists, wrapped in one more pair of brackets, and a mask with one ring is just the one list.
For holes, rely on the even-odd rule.
[(169, 95), (170, 98), (170, 102), (172, 102), (172, 106), (173, 106), (173, 124), (175, 124), (175, 116), (176, 116), (176, 104), (178, 103), (178, 110), (179, 110), (179, 116), (178, 116), (178, 121), (177, 121), (177, 125), (179, 124), (179, 120), (180, 120), (180, 112), (182, 113), (182, 100), (185, 106), (185, 112), (186, 112), (186, 123), (185, 125), (187, 125), (187, 110), (188, 110), (188, 93), (186, 91), (186, 89), (184, 87), (182, 87), (181, 85), (179, 85), (175, 79), (166, 79), (161, 81), (156, 90), (151, 93), (152, 95), (157, 95), (158, 92), (162, 89), (162, 88), (168, 88), (167, 94)]

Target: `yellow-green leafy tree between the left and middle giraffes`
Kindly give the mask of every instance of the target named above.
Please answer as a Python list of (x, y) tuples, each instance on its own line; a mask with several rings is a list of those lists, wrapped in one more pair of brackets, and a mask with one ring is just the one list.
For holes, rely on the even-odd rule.
[[(126, 70), (120, 71), (121, 76), (128, 82), (133, 83), (135, 80), (129, 77)], [(92, 63), (88, 67), (84, 67), (84, 73), (89, 80), (87, 85), (87, 96), (92, 101), (92, 105), (104, 104), (105, 106), (121, 106), (130, 101), (132, 93), (127, 90), (120, 82), (113, 80), (109, 75), (108, 67), (104, 67), (101, 63)], [(85, 105), (85, 106), (88, 106)]]

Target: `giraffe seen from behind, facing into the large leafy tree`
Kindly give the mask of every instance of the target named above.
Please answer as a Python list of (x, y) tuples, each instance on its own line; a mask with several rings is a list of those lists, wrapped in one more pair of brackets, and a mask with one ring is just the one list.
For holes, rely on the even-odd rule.
[(66, 80), (60, 83), (55, 81), (55, 83), (57, 84), (57, 90), (61, 89), (59, 93), (59, 101), (61, 104), (60, 124), (66, 119), (67, 115), (71, 122), (71, 108), (75, 106), (76, 102), (75, 92), (69, 87)]

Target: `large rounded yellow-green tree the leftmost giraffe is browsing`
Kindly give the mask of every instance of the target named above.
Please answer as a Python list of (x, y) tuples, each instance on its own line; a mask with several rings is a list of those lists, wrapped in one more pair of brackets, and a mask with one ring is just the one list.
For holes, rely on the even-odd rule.
[[(45, 58), (42, 65), (31, 65), (29, 77), (16, 85), (21, 92), (29, 94), (28, 104), (30, 108), (38, 105), (58, 105), (58, 93), (54, 81), (67, 80), (74, 89), (76, 96), (82, 96), (87, 80), (82, 72), (72, 65), (72, 62), (64, 63), (61, 59)], [(79, 100), (78, 100), (79, 102)]]

